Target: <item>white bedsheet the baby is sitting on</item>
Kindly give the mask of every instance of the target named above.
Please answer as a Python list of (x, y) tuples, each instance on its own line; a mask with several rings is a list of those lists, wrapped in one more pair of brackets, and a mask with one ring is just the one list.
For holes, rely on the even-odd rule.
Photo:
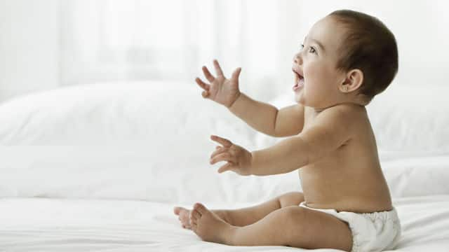
[[(393, 200), (403, 228), (396, 251), (449, 251), (449, 195)], [(229, 208), (203, 203), (210, 209)], [(173, 206), (133, 200), (0, 199), (0, 251), (302, 251), (201, 241), (180, 227)]]

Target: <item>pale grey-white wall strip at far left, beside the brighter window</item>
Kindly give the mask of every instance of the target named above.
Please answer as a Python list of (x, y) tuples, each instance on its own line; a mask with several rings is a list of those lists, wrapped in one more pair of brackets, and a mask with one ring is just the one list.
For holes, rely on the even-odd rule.
[(0, 101), (58, 86), (58, 0), (0, 0)]

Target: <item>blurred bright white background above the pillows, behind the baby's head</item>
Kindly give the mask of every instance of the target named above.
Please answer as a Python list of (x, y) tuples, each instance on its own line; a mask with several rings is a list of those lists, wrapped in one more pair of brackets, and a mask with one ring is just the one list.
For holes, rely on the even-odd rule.
[(242, 66), (242, 90), (290, 90), (291, 59), (333, 10), (375, 15), (394, 32), (395, 85), (446, 85), (447, 1), (0, 0), (0, 101), (100, 80), (185, 80), (220, 59)]

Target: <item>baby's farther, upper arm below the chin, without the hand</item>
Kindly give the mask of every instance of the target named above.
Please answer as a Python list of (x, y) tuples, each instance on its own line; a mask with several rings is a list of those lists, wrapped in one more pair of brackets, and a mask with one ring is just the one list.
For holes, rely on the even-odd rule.
[(283, 109), (257, 102), (241, 92), (229, 111), (255, 130), (272, 137), (299, 134), (304, 126), (304, 106), (295, 104)]

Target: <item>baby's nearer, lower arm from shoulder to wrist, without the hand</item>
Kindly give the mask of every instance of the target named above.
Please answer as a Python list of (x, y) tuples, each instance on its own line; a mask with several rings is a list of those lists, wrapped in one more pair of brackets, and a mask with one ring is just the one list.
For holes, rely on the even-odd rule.
[(349, 111), (340, 106), (322, 111), (313, 123), (295, 137), (253, 151), (251, 174), (284, 174), (325, 157), (352, 137)]

